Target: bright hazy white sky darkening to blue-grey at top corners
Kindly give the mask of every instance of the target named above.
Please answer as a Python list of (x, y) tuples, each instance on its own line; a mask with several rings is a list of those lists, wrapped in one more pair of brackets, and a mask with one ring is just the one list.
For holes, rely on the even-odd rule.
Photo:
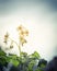
[[(0, 0), (0, 45), (5, 32), (18, 42), (20, 24), (30, 32), (22, 51), (36, 50), (46, 60), (57, 56), (57, 0)], [(19, 55), (15, 47), (7, 52)]]

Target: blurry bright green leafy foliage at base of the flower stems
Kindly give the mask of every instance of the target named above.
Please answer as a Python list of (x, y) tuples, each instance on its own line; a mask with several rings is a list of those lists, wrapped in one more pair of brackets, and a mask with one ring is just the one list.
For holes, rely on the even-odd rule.
[[(26, 52), (21, 52), (21, 56), (7, 54), (0, 49), (0, 64), (4, 66), (7, 62), (11, 62), (14, 67), (21, 67), (22, 71), (33, 71), (34, 66), (36, 64), (36, 60), (39, 60), (41, 56), (38, 52), (34, 52), (32, 55), (27, 55)], [(46, 64), (42, 63), (39, 68), (35, 71), (43, 71), (42, 68), (45, 68)]]

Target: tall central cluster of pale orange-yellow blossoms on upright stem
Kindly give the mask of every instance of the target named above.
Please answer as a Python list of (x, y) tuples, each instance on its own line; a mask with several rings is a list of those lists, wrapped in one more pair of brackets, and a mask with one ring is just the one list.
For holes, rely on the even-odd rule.
[(23, 46), (24, 43), (27, 43), (25, 36), (29, 36), (29, 31), (22, 25), (20, 25), (18, 27), (18, 32), (19, 32), (20, 44)]

